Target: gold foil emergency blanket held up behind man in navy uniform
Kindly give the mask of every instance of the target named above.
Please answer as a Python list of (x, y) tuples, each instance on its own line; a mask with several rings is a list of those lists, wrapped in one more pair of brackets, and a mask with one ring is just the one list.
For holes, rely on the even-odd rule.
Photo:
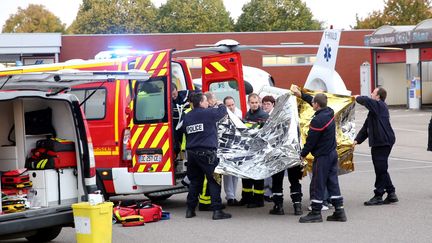
[[(303, 90), (307, 94), (314, 96), (318, 92)], [(355, 138), (355, 100), (351, 96), (341, 96), (328, 94), (327, 105), (335, 112), (336, 122), (336, 143), (337, 153), (339, 158), (339, 174), (346, 174), (354, 171), (353, 163), (353, 141)], [(300, 135), (302, 145), (306, 142), (307, 133), (309, 131), (309, 124), (315, 111), (307, 102), (302, 99), (297, 99), (299, 104), (300, 114)], [(302, 146), (303, 147), (303, 146)], [(307, 166), (305, 171), (312, 171), (313, 156), (309, 154), (306, 157)]]

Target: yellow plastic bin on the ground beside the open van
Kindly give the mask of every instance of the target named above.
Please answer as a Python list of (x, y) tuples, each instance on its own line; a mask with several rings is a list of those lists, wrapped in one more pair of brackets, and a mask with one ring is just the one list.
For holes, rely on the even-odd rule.
[(113, 203), (72, 204), (78, 243), (111, 243)]

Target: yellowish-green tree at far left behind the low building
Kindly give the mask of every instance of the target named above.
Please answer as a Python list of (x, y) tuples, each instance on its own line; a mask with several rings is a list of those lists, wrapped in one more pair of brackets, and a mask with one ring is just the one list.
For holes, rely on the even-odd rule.
[(43, 5), (29, 4), (18, 8), (3, 25), (3, 33), (65, 32), (65, 24)]

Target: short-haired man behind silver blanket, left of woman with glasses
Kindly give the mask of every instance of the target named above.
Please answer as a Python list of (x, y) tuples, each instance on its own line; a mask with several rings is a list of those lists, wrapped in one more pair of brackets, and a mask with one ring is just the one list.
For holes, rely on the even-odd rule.
[[(262, 127), (268, 114), (260, 107), (259, 96), (252, 93), (248, 96), (249, 111), (246, 113), (248, 127)], [(264, 180), (242, 179), (242, 199), (240, 205), (248, 208), (264, 207)]]

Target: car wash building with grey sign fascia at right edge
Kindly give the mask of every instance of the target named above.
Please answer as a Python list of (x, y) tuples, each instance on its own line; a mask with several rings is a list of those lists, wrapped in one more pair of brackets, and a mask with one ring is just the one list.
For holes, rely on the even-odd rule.
[(388, 90), (388, 103), (419, 109), (432, 105), (432, 19), (412, 26), (382, 26), (364, 44), (399, 47), (372, 52), (374, 86)]

